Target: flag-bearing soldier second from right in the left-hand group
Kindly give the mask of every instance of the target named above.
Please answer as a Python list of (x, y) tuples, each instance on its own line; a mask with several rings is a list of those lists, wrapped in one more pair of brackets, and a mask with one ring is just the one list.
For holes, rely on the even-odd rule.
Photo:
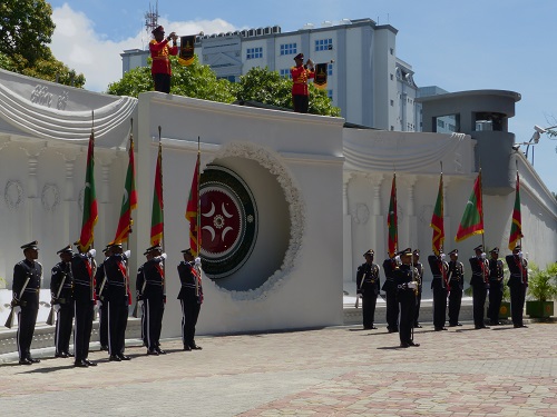
[(139, 296), (143, 301), (143, 317), (145, 319), (145, 340), (147, 341), (147, 355), (166, 354), (159, 346), (160, 330), (163, 327), (163, 312), (165, 310), (165, 270), (160, 246), (152, 246), (146, 250), (147, 261), (137, 274), (137, 282), (140, 284)]

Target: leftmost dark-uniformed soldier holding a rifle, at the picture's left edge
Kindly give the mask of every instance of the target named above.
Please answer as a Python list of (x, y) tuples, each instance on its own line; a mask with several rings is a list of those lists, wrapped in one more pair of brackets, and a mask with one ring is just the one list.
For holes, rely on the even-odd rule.
[(38, 241), (23, 245), (26, 259), (13, 267), (13, 298), (11, 306), (18, 317), (18, 344), (19, 365), (31, 365), (40, 363), (31, 357), (31, 341), (39, 314), (39, 291), (42, 279), (42, 265), (39, 257)]

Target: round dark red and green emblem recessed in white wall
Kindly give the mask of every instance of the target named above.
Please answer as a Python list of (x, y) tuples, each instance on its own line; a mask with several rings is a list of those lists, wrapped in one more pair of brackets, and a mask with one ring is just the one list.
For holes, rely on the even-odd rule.
[(216, 165), (202, 173), (199, 198), (203, 270), (209, 278), (224, 278), (252, 254), (257, 235), (255, 200), (242, 178)]

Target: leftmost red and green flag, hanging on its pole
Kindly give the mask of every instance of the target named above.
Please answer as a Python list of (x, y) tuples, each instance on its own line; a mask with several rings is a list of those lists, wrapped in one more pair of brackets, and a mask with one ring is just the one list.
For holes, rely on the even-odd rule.
[(89, 149), (87, 150), (87, 170), (85, 173), (84, 191), (84, 219), (81, 222), (81, 235), (79, 246), (87, 249), (94, 240), (94, 229), (98, 219), (97, 196), (95, 192), (95, 133), (89, 137)]

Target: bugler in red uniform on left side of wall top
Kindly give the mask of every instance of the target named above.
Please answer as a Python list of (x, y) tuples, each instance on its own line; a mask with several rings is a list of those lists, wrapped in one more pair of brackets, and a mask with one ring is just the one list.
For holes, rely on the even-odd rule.
[[(150, 58), (153, 59), (150, 73), (153, 76), (153, 81), (155, 81), (155, 91), (170, 92), (170, 60), (168, 56), (177, 54), (178, 47), (176, 46), (176, 40), (178, 39), (175, 32), (172, 32), (167, 38), (165, 38), (165, 29), (159, 26), (153, 30), (153, 39), (149, 42)], [(168, 46), (169, 41), (173, 41), (173, 46)]]

